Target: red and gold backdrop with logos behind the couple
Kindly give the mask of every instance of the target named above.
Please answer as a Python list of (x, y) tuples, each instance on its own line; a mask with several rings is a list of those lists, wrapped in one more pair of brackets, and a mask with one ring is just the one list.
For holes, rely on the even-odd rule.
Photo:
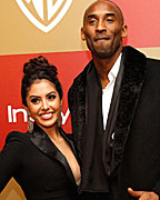
[[(81, 41), (83, 12), (93, 0), (0, 1), (0, 149), (8, 132), (27, 131), (28, 116), (21, 97), (23, 63), (44, 56), (58, 68), (63, 88), (62, 128), (71, 132), (67, 93), (73, 78), (91, 56)], [(160, 59), (160, 1), (114, 0), (128, 24), (124, 44)], [(11, 180), (0, 200), (23, 200)]]

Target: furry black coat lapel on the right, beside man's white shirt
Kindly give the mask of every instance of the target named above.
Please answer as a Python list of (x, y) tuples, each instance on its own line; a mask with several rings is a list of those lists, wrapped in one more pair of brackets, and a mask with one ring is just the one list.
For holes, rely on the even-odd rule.
[(138, 106), (144, 74), (146, 57), (131, 47), (123, 49), (123, 77), (120, 88), (118, 116), (114, 128), (112, 171), (122, 160), (124, 144)]

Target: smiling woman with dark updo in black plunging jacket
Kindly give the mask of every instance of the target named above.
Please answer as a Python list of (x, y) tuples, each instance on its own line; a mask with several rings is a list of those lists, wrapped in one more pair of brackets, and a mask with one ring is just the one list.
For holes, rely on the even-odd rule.
[(57, 68), (38, 57), (23, 72), (21, 97), (29, 131), (7, 137), (0, 153), (0, 191), (13, 177), (28, 200), (77, 200), (80, 168), (72, 142), (59, 127), (62, 88)]

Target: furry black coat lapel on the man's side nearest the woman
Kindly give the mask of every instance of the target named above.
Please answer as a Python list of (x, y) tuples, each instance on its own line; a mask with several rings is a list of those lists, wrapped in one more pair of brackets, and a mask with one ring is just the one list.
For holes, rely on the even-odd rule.
[(68, 92), (68, 102), (69, 109), (71, 113), (71, 122), (72, 122), (72, 132), (73, 132), (73, 140), (76, 147), (78, 149), (79, 157), (82, 157), (82, 137), (83, 137), (83, 129), (86, 124), (86, 84), (87, 84), (87, 72), (88, 69), (93, 64), (93, 61), (90, 61), (84, 70), (74, 79), (72, 87)]

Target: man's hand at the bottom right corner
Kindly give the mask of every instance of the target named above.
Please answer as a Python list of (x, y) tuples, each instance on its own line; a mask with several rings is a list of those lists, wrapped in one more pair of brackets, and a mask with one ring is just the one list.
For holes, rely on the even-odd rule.
[(154, 192), (133, 191), (131, 188), (128, 188), (128, 192), (130, 196), (132, 196), (139, 200), (159, 200), (159, 196)]

